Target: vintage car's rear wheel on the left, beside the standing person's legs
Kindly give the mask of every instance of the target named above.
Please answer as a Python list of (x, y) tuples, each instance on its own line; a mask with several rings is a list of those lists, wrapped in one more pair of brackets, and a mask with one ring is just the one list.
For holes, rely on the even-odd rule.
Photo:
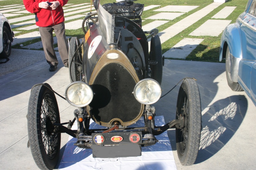
[(80, 71), (79, 66), (82, 66), (82, 49), (77, 48), (80, 46), (80, 41), (77, 37), (72, 37), (70, 39), (70, 48), (68, 53), (68, 66), (69, 66), (69, 78), (70, 82), (80, 81)]

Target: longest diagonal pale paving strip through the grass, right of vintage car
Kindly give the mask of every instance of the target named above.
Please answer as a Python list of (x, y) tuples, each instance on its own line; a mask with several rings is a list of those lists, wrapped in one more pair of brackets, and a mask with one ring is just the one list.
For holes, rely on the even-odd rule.
[[(179, 22), (173, 24), (172, 26), (166, 28), (165, 30), (161, 31), (159, 34), (161, 43), (169, 40), (173, 36), (177, 35), (178, 33), (182, 32), (192, 24), (196, 23), (198, 20), (209, 14), (215, 8), (219, 7), (223, 3), (212, 3), (203, 9), (196, 11), (195, 13), (189, 15), (188, 17), (180, 20)], [(150, 47), (150, 43), (149, 43)]]

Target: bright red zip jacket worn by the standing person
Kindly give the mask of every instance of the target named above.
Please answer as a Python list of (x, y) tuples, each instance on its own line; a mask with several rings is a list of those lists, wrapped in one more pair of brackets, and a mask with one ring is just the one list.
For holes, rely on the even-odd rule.
[[(65, 18), (62, 6), (67, 4), (68, 0), (58, 0), (60, 5), (55, 10), (52, 10), (51, 7), (48, 7), (48, 9), (38, 7), (40, 2), (46, 1), (47, 0), (23, 0), (26, 10), (31, 13), (35, 13), (36, 25), (46, 27), (64, 22)], [(48, 2), (53, 1), (55, 0), (48, 0)]]

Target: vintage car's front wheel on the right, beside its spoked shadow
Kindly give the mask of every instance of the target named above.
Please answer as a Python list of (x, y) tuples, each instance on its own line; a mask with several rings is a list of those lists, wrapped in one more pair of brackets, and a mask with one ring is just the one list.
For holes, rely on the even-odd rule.
[(180, 163), (193, 165), (201, 136), (201, 101), (194, 79), (185, 79), (179, 90), (176, 119), (184, 118), (184, 126), (176, 127), (176, 147)]

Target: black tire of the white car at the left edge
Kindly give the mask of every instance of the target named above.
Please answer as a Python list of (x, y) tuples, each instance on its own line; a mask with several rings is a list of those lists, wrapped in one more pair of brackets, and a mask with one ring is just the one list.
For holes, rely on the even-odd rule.
[(3, 51), (1, 57), (7, 58), (11, 55), (12, 42), (11, 33), (6, 26), (3, 26)]

